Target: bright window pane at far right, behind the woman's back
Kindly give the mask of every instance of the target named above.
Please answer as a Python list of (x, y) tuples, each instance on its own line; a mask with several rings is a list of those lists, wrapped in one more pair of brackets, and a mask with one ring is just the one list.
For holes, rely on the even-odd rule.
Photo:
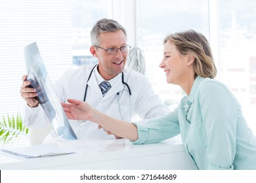
[(218, 76), (236, 95), (256, 134), (256, 2), (217, 1)]

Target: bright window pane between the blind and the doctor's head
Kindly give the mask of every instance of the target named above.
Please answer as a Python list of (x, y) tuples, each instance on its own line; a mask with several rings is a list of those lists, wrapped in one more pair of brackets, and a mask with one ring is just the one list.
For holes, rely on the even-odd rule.
[(95, 64), (91, 55), (91, 29), (97, 20), (109, 17), (110, 2), (106, 0), (72, 0), (73, 64)]

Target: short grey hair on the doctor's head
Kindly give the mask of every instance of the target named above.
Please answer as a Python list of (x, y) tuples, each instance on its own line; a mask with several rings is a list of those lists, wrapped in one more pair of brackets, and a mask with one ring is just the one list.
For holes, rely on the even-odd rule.
[(91, 44), (93, 46), (99, 46), (100, 40), (98, 37), (101, 33), (116, 32), (119, 30), (123, 31), (127, 39), (126, 30), (121, 24), (119, 24), (116, 20), (102, 18), (101, 20), (98, 20), (98, 22), (96, 22), (96, 24), (93, 26), (93, 29), (91, 30)]

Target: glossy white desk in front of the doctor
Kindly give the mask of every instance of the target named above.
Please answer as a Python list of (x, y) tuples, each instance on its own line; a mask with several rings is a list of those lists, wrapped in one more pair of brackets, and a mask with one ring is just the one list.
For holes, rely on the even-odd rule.
[(56, 141), (75, 154), (49, 158), (20, 158), (1, 152), (0, 169), (196, 169), (179, 138), (157, 144), (131, 144), (125, 139)]

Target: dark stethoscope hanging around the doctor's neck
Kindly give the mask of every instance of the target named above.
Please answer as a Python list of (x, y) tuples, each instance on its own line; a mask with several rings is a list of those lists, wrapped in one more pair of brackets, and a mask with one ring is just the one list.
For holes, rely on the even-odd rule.
[[(95, 66), (93, 66), (93, 69), (91, 69), (91, 73), (89, 74), (89, 77), (88, 77), (88, 80), (87, 80), (87, 83), (86, 83), (86, 86), (85, 86), (85, 96), (83, 97), (83, 101), (85, 102), (85, 99), (86, 99), (86, 95), (87, 95), (87, 89), (88, 89), (88, 82), (89, 82), (89, 80), (90, 80), (90, 78), (91, 78), (91, 75), (93, 74), (93, 71), (94, 71), (94, 69), (95, 69), (95, 67), (97, 66), (98, 64), (96, 64)], [(124, 84), (126, 87), (127, 87), (127, 89), (128, 89), (128, 92), (129, 92), (129, 97), (130, 97), (130, 110), (131, 110), (131, 89), (130, 89), (130, 87), (129, 87), (129, 85), (124, 81), (124, 78), (123, 78), (123, 72), (121, 73), (122, 75), (121, 75), (121, 82), (122, 82), (122, 84)], [(123, 90), (125, 89), (125, 87), (123, 88)], [(121, 92), (121, 93), (123, 93), (123, 91)], [(118, 106), (119, 106), (119, 113), (120, 113), (120, 116), (121, 116), (121, 118), (122, 118), (122, 120), (124, 120), (124, 118), (123, 118), (123, 116), (122, 116), (122, 112), (121, 112), (121, 107), (120, 107), (120, 92), (117, 92), (116, 93), (117, 94), (117, 100), (118, 100)], [(128, 119), (128, 121), (129, 120), (131, 120), (131, 111), (130, 111), (130, 116), (129, 116), (129, 119)], [(77, 121), (79, 124), (82, 124), (83, 122), (86, 122), (86, 121), (84, 121), (84, 120), (78, 120)]]

